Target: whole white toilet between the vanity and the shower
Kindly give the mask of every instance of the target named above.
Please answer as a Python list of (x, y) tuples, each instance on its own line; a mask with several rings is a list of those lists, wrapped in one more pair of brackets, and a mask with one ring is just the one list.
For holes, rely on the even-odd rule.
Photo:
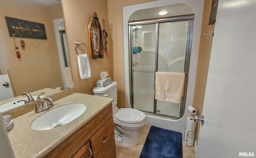
[(140, 110), (133, 108), (117, 107), (117, 82), (106, 87), (93, 88), (95, 96), (114, 98), (112, 102), (115, 140), (127, 145), (139, 143), (139, 130), (146, 125), (146, 115)]

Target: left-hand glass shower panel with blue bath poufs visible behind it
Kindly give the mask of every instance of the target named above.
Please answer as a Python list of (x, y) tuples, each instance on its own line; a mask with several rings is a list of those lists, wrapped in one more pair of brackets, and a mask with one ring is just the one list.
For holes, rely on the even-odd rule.
[(132, 27), (133, 107), (154, 112), (156, 24)]

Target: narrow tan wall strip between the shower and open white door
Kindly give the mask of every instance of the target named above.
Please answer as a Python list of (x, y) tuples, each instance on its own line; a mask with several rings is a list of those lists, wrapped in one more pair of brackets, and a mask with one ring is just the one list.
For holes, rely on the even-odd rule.
[[(196, 85), (194, 91), (194, 99), (193, 99), (193, 106), (197, 107), (198, 116), (202, 117), (202, 108), (204, 103), (204, 93), (206, 88), (206, 81), (208, 75), (208, 67), (210, 62), (210, 55), (211, 55), (211, 48), (212, 48), (212, 39), (213, 37), (210, 36), (207, 39), (206, 35), (207, 31), (214, 30), (215, 22), (211, 25), (208, 25), (209, 18), (210, 18), (210, 10), (211, 10), (212, 1), (205, 0), (204, 1), (204, 12), (203, 12), (203, 19), (202, 19), (202, 30), (201, 30), (201, 37), (200, 37), (200, 47), (198, 53), (198, 64), (197, 64), (197, 72), (196, 72)], [(194, 115), (192, 115), (194, 117)], [(197, 123), (196, 127), (196, 142), (198, 142), (198, 135), (200, 131), (200, 123)]]

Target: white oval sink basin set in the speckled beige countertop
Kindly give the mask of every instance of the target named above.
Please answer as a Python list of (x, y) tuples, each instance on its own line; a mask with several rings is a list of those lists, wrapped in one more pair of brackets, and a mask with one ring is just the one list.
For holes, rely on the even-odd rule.
[(70, 103), (52, 109), (36, 118), (31, 128), (34, 130), (48, 130), (60, 127), (76, 119), (86, 110), (86, 106), (81, 103)]

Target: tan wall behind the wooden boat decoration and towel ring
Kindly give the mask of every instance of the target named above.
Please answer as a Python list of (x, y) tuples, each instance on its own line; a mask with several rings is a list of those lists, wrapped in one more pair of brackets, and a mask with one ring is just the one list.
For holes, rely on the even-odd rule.
[[(72, 77), (76, 92), (93, 94), (92, 89), (96, 86), (96, 80), (100, 79), (100, 72), (106, 71), (112, 80), (113, 76), (113, 59), (115, 54), (112, 50), (112, 35), (110, 33), (108, 22), (107, 0), (62, 0), (63, 16), (68, 42), (68, 51), (70, 56), (70, 64), (72, 69)], [(77, 54), (75, 52), (74, 42), (80, 41), (88, 47), (88, 24), (92, 18), (92, 14), (96, 12), (100, 21), (101, 29), (103, 29), (102, 19), (105, 20), (106, 32), (108, 33), (108, 54), (109, 58), (104, 53), (103, 59), (90, 59), (90, 68), (92, 77), (81, 79), (78, 70)], [(119, 39), (120, 40), (120, 39)], [(78, 46), (79, 54), (86, 51), (84, 45)], [(115, 52), (118, 53), (118, 52)], [(89, 54), (88, 54), (89, 55)], [(90, 57), (90, 55), (89, 55)]]

